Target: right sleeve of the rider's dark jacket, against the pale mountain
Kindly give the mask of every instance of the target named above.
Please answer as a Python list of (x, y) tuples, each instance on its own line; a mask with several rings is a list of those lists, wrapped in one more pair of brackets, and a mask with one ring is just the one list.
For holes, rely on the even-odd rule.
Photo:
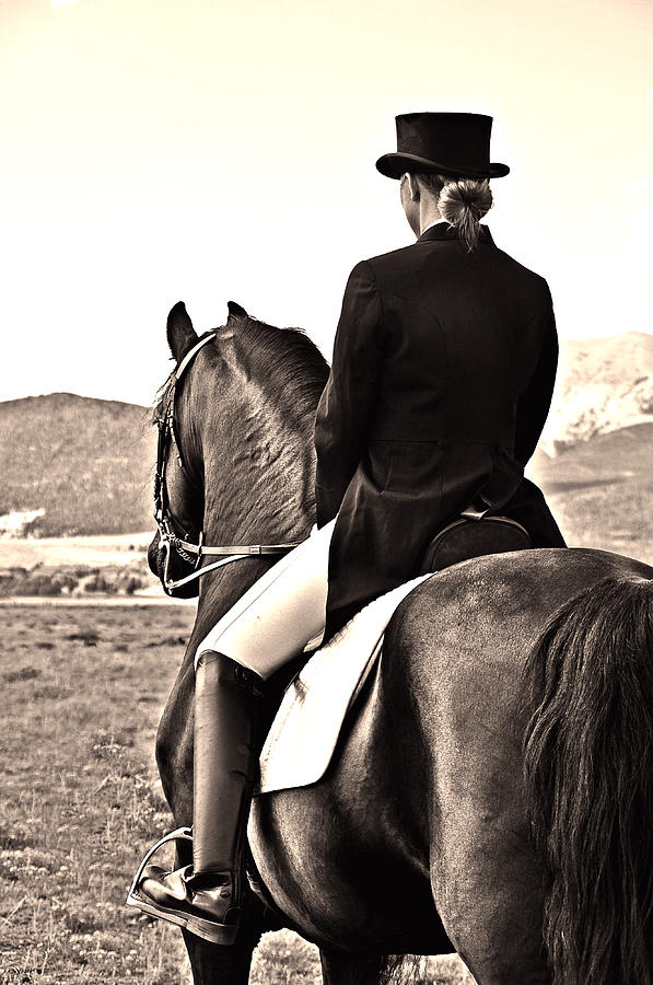
[(533, 455), (551, 406), (558, 367), (558, 333), (551, 296), (548, 292), (541, 350), (535, 371), (517, 403), (515, 457), (526, 465)]

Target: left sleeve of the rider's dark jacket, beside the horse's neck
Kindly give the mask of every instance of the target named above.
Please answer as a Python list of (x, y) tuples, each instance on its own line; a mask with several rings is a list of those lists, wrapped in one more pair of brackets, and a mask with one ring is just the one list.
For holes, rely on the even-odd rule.
[(370, 264), (351, 271), (315, 419), (317, 525), (333, 520), (366, 445), (382, 351), (382, 304)]

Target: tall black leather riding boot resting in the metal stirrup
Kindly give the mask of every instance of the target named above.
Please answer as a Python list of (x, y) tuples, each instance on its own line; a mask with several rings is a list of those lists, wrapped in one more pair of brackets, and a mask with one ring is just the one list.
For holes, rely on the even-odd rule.
[[(193, 835), (179, 828), (145, 856), (128, 903), (214, 943), (233, 943), (245, 882), (244, 848), (264, 739), (263, 681), (205, 651), (195, 681)], [(165, 841), (193, 837), (193, 867), (147, 865)]]

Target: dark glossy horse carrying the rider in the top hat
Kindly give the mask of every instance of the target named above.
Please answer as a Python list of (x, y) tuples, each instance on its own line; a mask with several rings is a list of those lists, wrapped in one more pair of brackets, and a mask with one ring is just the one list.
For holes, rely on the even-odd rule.
[[(214, 545), (301, 541), (327, 366), (303, 334), (230, 311), (177, 387), (175, 523)], [(179, 362), (198, 341), (183, 304), (167, 334)], [(196, 647), (270, 563), (201, 579), (158, 739), (178, 825)], [(524, 551), (456, 565), (400, 605), (326, 777), (256, 798), (250, 818), (260, 876), (326, 983), (452, 950), (479, 985), (653, 983), (652, 578), (603, 551)], [(198, 985), (247, 982), (265, 913), (252, 896), (233, 948), (186, 936)]]

